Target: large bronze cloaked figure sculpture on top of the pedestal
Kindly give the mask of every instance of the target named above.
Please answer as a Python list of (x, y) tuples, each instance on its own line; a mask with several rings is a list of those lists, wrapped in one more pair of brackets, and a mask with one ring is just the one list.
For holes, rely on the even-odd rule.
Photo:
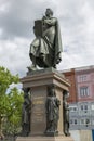
[(33, 33), (36, 39), (30, 44), (29, 56), (32, 70), (39, 67), (56, 67), (62, 60), (62, 40), (58, 21), (53, 17), (53, 11), (46, 9), (42, 20), (35, 21)]

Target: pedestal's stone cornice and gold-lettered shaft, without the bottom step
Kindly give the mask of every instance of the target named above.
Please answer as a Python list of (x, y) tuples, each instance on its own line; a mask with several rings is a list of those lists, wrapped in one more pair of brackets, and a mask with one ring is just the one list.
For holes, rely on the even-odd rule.
[[(58, 132), (45, 132), (45, 136), (61, 136), (64, 134), (64, 108), (63, 108), (63, 101), (64, 95), (63, 92), (69, 89), (69, 81), (64, 77), (63, 74), (57, 72), (54, 68), (45, 68), (40, 70), (30, 72), (26, 77), (21, 79), (24, 89), (29, 89), (30, 100), (31, 100), (31, 115), (30, 115), (30, 132), (29, 134), (32, 136), (44, 136), (46, 130), (48, 119), (46, 119), (46, 108), (45, 103), (48, 98), (50, 97), (50, 87), (54, 86), (55, 91), (55, 101), (59, 101), (59, 111), (57, 112), (59, 120), (57, 120), (57, 125), (55, 121), (54, 130)], [(58, 102), (57, 102), (58, 103)], [(53, 107), (54, 108), (54, 107)], [(56, 108), (56, 107), (55, 107)], [(55, 118), (58, 118), (57, 115)], [(52, 118), (52, 117), (51, 117)], [(49, 130), (51, 125), (49, 125)]]

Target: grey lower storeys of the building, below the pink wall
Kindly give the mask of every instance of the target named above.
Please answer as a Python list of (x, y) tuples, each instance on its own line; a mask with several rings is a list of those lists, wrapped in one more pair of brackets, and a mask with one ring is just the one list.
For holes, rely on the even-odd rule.
[(70, 104), (70, 129), (94, 129), (94, 102), (78, 102)]

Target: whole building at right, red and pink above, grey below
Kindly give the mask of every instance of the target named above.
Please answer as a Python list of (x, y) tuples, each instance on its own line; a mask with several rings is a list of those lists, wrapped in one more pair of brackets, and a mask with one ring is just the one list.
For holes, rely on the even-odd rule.
[(70, 129), (94, 129), (94, 66), (73, 68), (63, 74), (71, 84), (68, 100)]

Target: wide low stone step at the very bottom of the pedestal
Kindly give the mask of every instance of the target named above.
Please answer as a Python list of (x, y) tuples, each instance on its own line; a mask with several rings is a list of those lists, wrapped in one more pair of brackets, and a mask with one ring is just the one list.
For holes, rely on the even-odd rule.
[(18, 137), (16, 141), (73, 141), (71, 137)]

